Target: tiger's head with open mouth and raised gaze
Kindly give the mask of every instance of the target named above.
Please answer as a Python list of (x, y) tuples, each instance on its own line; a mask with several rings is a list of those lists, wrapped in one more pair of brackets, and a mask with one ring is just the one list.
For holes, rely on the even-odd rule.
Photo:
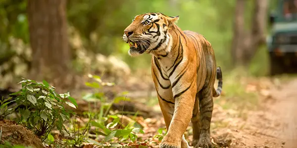
[(124, 30), (123, 40), (130, 45), (129, 55), (164, 50), (170, 40), (169, 30), (179, 16), (169, 17), (162, 13), (145, 13), (135, 16)]

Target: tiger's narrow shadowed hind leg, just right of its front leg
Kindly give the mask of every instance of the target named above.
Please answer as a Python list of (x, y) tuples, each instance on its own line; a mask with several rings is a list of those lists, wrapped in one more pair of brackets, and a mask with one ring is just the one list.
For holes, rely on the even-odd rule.
[(201, 92), (198, 92), (196, 94), (193, 115), (191, 118), (192, 127), (193, 127), (192, 146), (196, 146), (198, 144), (199, 137), (200, 137), (200, 130), (201, 130), (201, 121), (200, 121), (200, 114), (199, 114), (199, 95), (201, 97)]

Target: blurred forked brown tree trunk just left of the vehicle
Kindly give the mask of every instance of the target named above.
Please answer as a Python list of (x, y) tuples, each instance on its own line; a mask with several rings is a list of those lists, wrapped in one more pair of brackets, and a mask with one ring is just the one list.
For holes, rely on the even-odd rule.
[(265, 42), (268, 0), (253, 0), (251, 28), (245, 30), (247, 0), (237, 0), (235, 8), (232, 59), (235, 65), (247, 66), (259, 46)]

